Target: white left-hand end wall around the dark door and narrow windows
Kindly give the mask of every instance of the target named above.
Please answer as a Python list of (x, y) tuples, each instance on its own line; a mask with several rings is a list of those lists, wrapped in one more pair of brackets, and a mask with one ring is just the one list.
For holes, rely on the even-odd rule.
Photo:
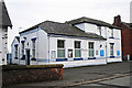
[[(26, 37), (26, 40), (24, 40), (24, 37)], [(41, 30), (41, 29), (35, 29), (35, 31), (33, 32), (28, 32), (20, 34), (20, 58), (22, 57), (22, 43), (21, 41), (25, 41), (24, 42), (24, 55), (25, 55), (25, 51), (30, 50), (30, 58), (32, 58), (32, 38), (36, 37), (35, 41), (35, 56), (36, 56), (36, 61), (31, 61), (31, 65), (33, 64), (45, 64), (47, 63), (47, 56), (48, 56), (48, 46), (47, 46), (47, 34)], [(28, 45), (29, 44), (29, 45)], [(45, 61), (45, 62), (40, 62), (40, 61)], [(25, 61), (20, 61), (21, 64), (26, 64)]]

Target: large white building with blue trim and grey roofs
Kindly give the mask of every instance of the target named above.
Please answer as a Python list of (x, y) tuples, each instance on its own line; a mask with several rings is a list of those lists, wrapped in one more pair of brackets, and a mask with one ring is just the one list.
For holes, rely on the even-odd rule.
[(120, 28), (88, 18), (36, 24), (20, 33), (19, 47), (20, 58), (12, 51), (12, 63), (22, 65), (74, 67), (122, 61)]

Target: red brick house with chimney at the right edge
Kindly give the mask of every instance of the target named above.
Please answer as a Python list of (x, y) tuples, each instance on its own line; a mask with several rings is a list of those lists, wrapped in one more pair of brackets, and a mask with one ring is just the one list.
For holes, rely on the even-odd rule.
[(132, 23), (125, 23), (121, 21), (121, 16), (114, 16), (113, 25), (120, 26), (121, 30), (121, 43), (122, 43), (122, 58), (125, 61), (128, 56), (132, 61)]

